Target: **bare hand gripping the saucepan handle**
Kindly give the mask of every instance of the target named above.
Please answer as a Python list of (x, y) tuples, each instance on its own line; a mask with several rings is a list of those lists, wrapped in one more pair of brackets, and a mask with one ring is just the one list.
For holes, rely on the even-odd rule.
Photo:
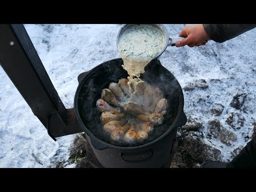
[(179, 37), (186, 37), (178, 41), (175, 45), (177, 47), (188, 45), (190, 47), (205, 45), (211, 38), (204, 30), (203, 25), (189, 25), (185, 26), (179, 34)]

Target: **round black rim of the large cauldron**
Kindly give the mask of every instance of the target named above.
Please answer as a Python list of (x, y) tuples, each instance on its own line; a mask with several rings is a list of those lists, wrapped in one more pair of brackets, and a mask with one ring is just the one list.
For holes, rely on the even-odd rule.
[[(115, 60), (122, 60), (122, 58), (116, 58), (116, 59), (111, 59), (111, 60), (108, 60), (108, 61), (105, 61), (101, 64), (99, 64), (98, 66), (92, 68), (91, 70), (89, 70), (86, 74), (89, 75), (92, 71), (94, 70), (97, 70), (98, 68), (100, 68), (101, 66), (103, 65), (106, 65), (106, 63), (108, 62), (113, 62)], [(122, 60), (123, 61), (123, 60)], [(162, 66), (163, 67), (163, 66)], [(167, 70), (167, 69), (166, 69)], [(168, 70), (169, 71), (169, 70)], [(170, 71), (169, 71), (170, 72)], [(171, 72), (170, 72), (171, 73)], [(79, 115), (79, 109), (78, 109), (78, 95), (84, 85), (84, 82), (86, 81), (86, 76), (82, 79), (81, 82), (79, 82), (78, 84), (78, 87), (77, 87), (77, 90), (76, 90), (76, 93), (75, 93), (75, 98), (74, 98), (74, 109), (75, 109), (75, 116), (76, 116), (76, 119), (78, 121), (78, 123), (80, 124), (82, 130), (89, 136), (90, 140), (94, 140), (96, 142), (100, 142), (102, 145), (104, 145), (105, 147), (103, 148), (100, 148), (100, 149), (106, 149), (106, 148), (114, 148), (114, 149), (119, 149), (119, 150), (129, 150), (129, 149), (140, 149), (140, 148), (145, 148), (147, 146), (150, 146), (152, 145), (153, 143), (156, 143), (157, 141), (163, 139), (166, 135), (168, 135), (175, 127), (179, 127), (177, 126), (177, 123), (178, 124), (181, 124), (181, 125), (184, 125), (186, 122), (187, 122), (187, 117), (186, 115), (184, 114), (183, 112), (183, 106), (184, 106), (184, 97), (183, 97), (183, 92), (182, 92), (182, 89), (180, 87), (180, 84), (178, 82), (178, 85), (179, 85), (179, 89), (181, 90), (181, 94), (180, 94), (180, 98), (179, 98), (179, 108), (178, 108), (178, 112), (177, 112), (177, 115), (172, 123), (172, 125), (170, 126), (170, 128), (168, 130), (166, 130), (161, 136), (159, 136), (158, 138), (148, 142), (148, 143), (145, 143), (143, 145), (139, 145), (139, 146), (130, 146), (130, 147), (122, 147), (122, 146), (116, 146), (116, 145), (112, 145), (108, 142), (105, 142), (99, 138), (97, 138), (94, 134), (91, 133), (90, 130), (88, 130), (81, 118), (81, 116)], [(174, 77), (174, 76), (173, 76)], [(174, 77), (175, 78), (175, 77)], [(175, 80), (177, 80), (175, 78)], [(179, 121), (181, 121), (181, 123), (179, 123)], [(93, 145), (93, 142), (91, 142), (91, 144)], [(94, 146), (93, 146), (94, 147)], [(97, 147), (95, 147), (97, 148)]]

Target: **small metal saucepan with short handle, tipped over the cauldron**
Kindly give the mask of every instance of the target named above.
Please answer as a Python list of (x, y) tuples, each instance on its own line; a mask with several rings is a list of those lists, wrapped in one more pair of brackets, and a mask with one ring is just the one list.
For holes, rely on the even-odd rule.
[[(124, 31), (134, 25), (140, 25), (140, 24), (125, 24), (119, 29), (117, 37), (116, 37), (116, 45), (117, 46), (119, 43), (119, 39), (123, 35)], [(169, 37), (169, 33), (164, 25), (161, 25), (161, 24), (147, 24), (147, 25), (154, 26), (157, 29), (159, 29), (161, 31), (161, 33), (164, 35), (164, 39), (165, 39), (165, 44), (164, 44), (163, 49), (156, 55), (156, 57), (154, 59), (159, 59), (159, 57), (162, 55), (162, 53), (166, 50), (167, 46), (174, 46), (175, 43), (177, 43), (179, 40), (184, 38), (184, 37)]]

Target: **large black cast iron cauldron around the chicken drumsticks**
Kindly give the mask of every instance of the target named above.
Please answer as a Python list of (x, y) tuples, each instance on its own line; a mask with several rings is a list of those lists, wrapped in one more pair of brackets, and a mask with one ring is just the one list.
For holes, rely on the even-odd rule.
[(182, 89), (172, 73), (164, 68), (159, 60), (152, 60), (141, 76), (149, 84), (158, 86), (169, 101), (163, 125), (156, 127), (155, 137), (139, 146), (113, 145), (105, 137), (100, 122), (100, 111), (96, 101), (102, 89), (110, 82), (127, 78), (122, 68), (121, 58), (101, 63), (90, 71), (78, 76), (74, 109), (77, 121), (86, 134), (95, 156), (104, 167), (161, 167), (170, 161), (171, 148), (177, 127), (185, 125), (187, 117), (183, 112), (184, 98)]

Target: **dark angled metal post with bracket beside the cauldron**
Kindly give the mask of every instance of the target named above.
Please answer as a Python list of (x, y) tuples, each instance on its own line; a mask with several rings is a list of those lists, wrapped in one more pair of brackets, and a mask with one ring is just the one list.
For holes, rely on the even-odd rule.
[(83, 132), (66, 109), (21, 24), (0, 25), (0, 64), (50, 137)]

